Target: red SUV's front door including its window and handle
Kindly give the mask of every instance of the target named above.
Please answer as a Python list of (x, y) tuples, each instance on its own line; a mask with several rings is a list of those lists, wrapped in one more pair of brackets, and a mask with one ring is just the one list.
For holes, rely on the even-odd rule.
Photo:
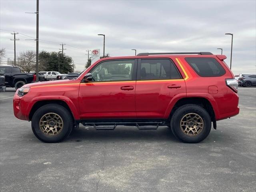
[(108, 60), (89, 73), (92, 82), (81, 82), (81, 119), (136, 118), (135, 86), (137, 60)]

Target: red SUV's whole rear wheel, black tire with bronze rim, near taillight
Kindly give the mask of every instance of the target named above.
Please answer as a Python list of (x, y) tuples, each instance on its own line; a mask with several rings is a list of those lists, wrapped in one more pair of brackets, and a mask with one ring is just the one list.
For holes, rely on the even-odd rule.
[(204, 108), (186, 104), (174, 112), (170, 125), (173, 134), (182, 142), (198, 143), (209, 135), (212, 123)]

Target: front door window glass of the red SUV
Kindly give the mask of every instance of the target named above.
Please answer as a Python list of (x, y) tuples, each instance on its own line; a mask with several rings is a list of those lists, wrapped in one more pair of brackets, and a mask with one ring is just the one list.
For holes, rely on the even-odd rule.
[(129, 81), (132, 80), (134, 60), (104, 61), (93, 68), (90, 73), (94, 81)]

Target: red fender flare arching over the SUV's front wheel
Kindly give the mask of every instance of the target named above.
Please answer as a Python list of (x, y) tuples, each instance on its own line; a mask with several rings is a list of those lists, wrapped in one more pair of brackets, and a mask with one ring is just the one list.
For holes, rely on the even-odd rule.
[(75, 104), (70, 100), (70, 98), (66, 97), (66, 96), (40, 96), (40, 97), (36, 97), (36, 98), (33, 98), (32, 101), (30, 102), (29, 106), (28, 106), (28, 111), (30, 112), (30, 110), (33, 108), (33, 106), (39, 102), (39, 101), (47, 101), (47, 100), (60, 100), (60, 101), (63, 101), (65, 102), (73, 117), (74, 117), (74, 120), (79, 120), (80, 117), (79, 117), (79, 113), (78, 113), (78, 109), (76, 108)]

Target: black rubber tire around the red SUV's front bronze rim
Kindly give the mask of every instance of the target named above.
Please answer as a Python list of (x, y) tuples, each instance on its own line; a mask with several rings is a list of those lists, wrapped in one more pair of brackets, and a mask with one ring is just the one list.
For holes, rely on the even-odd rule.
[[(63, 127), (59, 134), (57, 135), (46, 135), (43, 133), (43, 131), (40, 128), (40, 119), (48, 113), (54, 113), (58, 114), (63, 120)], [(31, 121), (32, 131), (34, 135), (41, 140), (42, 142), (46, 143), (56, 143), (61, 142), (64, 140), (72, 131), (73, 127), (73, 119), (72, 114), (63, 106), (58, 104), (46, 104), (42, 107), (40, 107), (36, 112), (34, 113)]]

